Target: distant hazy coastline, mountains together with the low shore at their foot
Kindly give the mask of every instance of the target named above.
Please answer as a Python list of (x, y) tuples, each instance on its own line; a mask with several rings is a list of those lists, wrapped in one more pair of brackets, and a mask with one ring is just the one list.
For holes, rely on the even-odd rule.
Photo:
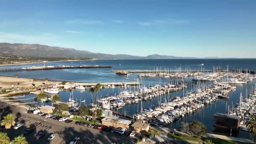
[[(74, 48), (61, 48), (40, 44), (0, 43), (0, 64), (22, 64), (42, 61), (68, 61), (91, 59), (198, 59), (153, 54), (149, 56), (132, 56), (126, 54), (106, 54), (81, 51)], [(219, 59), (207, 57), (206, 59)]]

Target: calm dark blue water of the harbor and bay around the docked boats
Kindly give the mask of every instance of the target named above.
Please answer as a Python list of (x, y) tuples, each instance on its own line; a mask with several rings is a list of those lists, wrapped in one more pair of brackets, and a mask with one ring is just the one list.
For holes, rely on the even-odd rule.
[[(48, 65), (110, 65), (112, 68), (99, 68), (99, 69), (57, 69), (57, 70), (47, 70), (47, 71), (22, 71), (22, 72), (3, 72), (0, 75), (14, 76), (15, 74), (19, 74), (19, 77), (29, 77), (29, 78), (38, 78), (44, 79), (48, 77), (52, 80), (69, 80), (69, 81), (77, 81), (77, 82), (131, 82), (131, 80), (125, 80), (126, 76), (116, 75), (115, 73), (110, 72), (111, 70), (118, 69), (177, 69), (181, 67), (185, 69), (184, 66), (191, 66), (191, 70), (201, 69), (199, 65), (204, 64), (203, 69), (213, 69), (213, 67), (222, 67), (226, 68), (229, 65), (229, 69), (250, 69), (256, 70), (255, 65), (256, 59), (180, 59), (180, 60), (96, 60), (96, 61), (62, 61), (62, 62), (48, 62), (45, 64)], [(121, 64), (121, 65), (120, 65)], [(13, 65), (13, 66), (5, 66), (5, 67), (31, 67), (31, 66), (39, 66), (40, 64), (25, 64), (25, 65)], [(3, 68), (3, 67), (0, 67)], [(138, 73), (129, 75), (129, 78), (137, 78)], [(171, 79), (168, 78), (147, 78), (143, 77), (139, 79), (143, 86), (155, 85), (155, 84), (165, 84)], [(184, 78), (185, 81), (190, 82), (192, 77)], [(245, 96), (246, 88), (248, 93), (252, 87), (256, 83), (256, 80), (251, 81), (246, 85), (236, 85), (237, 88), (235, 91), (230, 93), (230, 99), (228, 101), (219, 99), (213, 104), (209, 104), (205, 106), (203, 109), (200, 109), (190, 115), (186, 115), (179, 121), (176, 121), (172, 124), (172, 127), (179, 128), (181, 122), (189, 122), (191, 120), (198, 120), (203, 122), (208, 132), (218, 132), (218, 133), (229, 133), (224, 131), (217, 131), (213, 127), (213, 115), (216, 112), (225, 113), (227, 112), (227, 107), (231, 107), (232, 103), (236, 104), (239, 102), (240, 93), (243, 93)], [(208, 83), (210, 84), (210, 83)], [(197, 85), (194, 85), (192, 89), (195, 89)], [(137, 90), (137, 87), (135, 87)], [(128, 91), (134, 91), (134, 87), (127, 88)], [(106, 95), (117, 95), (118, 92), (121, 91), (120, 88), (111, 88), (111, 89), (101, 89), (98, 93), (99, 98), (104, 97)], [(160, 98), (161, 101), (164, 102), (165, 99), (171, 99), (171, 97), (175, 96), (183, 96), (183, 93), (186, 93), (187, 90), (178, 91), (175, 93), (169, 93), (166, 96), (155, 97), (152, 100), (142, 101), (143, 109), (146, 107), (152, 107), (154, 105), (158, 105)], [(189, 89), (188, 91), (191, 91)], [(61, 96), (62, 101), (67, 101), (69, 98), (69, 91), (60, 91), (59, 95)], [(29, 94), (26, 95), (26, 98), (34, 97), (35, 95)], [(19, 98), (24, 99), (24, 97)], [(88, 90), (85, 91), (74, 91), (74, 99), (83, 101), (85, 99), (85, 104), (90, 104), (91, 102), (91, 94)], [(28, 100), (26, 102), (33, 102), (34, 100)], [(47, 103), (51, 104), (51, 102)], [(83, 105), (83, 103), (81, 103)], [(119, 109), (120, 112), (125, 112), (128, 115), (133, 115), (134, 113), (140, 112), (141, 103), (139, 104), (129, 104)], [(249, 138), (250, 135), (246, 132), (240, 131), (239, 133), (233, 133), (233, 135)]]

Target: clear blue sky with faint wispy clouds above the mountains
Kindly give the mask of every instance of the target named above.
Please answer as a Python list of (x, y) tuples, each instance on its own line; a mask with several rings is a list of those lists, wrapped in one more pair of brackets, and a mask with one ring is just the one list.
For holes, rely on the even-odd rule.
[(256, 0), (1, 0), (0, 42), (256, 58)]

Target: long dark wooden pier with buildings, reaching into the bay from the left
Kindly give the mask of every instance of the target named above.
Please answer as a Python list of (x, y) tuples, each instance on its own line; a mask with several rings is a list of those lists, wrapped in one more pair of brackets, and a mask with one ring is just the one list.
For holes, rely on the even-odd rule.
[(17, 67), (17, 68), (2, 68), (0, 72), (16, 72), (16, 71), (34, 71), (34, 70), (51, 70), (51, 69), (85, 69), (85, 68), (112, 68), (112, 66), (99, 65), (83, 65), (83, 66), (57, 66), (57, 67)]

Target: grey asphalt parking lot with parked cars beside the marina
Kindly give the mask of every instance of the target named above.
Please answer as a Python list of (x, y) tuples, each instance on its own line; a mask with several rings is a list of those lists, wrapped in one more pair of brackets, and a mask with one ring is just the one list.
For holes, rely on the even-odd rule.
[[(10, 111), (8, 113), (13, 113), (14, 115), (19, 115), (20, 113), (20, 115), (23, 116), (23, 120), (31, 120), (30, 123), (27, 123), (18, 130), (14, 130), (13, 128), (1, 128), (1, 131), (5, 131), (6, 133), (8, 133), (10, 139), (13, 139), (16, 136), (20, 136), (24, 129), (28, 128), (36, 121), (42, 122), (44, 126), (52, 125), (52, 130), (47, 132), (39, 140), (36, 139), (36, 134), (38, 131), (44, 130), (44, 128), (42, 128), (41, 126), (37, 127), (34, 131), (25, 136), (29, 144), (69, 144), (69, 142), (77, 136), (80, 137), (80, 141), (78, 141), (77, 144), (111, 144), (115, 142), (118, 144), (133, 144), (136, 142), (136, 139), (131, 139), (128, 136), (121, 136), (117, 133), (99, 131), (94, 128), (75, 125), (74, 121), (72, 123), (65, 123), (59, 122), (58, 120), (47, 119), (39, 115), (28, 114), (26, 112), (26, 107), (24, 106), (10, 106)], [(27, 118), (25, 118), (26, 115)], [(59, 134), (52, 141), (47, 141), (48, 136), (50, 136), (51, 133), (54, 133), (55, 131), (58, 131)]]

